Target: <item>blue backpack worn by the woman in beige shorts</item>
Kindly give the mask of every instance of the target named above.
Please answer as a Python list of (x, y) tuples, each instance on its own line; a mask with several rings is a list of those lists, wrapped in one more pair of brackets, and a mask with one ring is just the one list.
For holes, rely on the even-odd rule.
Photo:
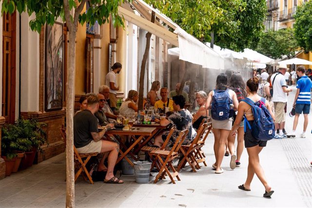
[(223, 121), (233, 117), (234, 110), (230, 109), (230, 105), (233, 103), (229, 89), (226, 90), (214, 90), (213, 100), (211, 104), (212, 117), (215, 120)]

